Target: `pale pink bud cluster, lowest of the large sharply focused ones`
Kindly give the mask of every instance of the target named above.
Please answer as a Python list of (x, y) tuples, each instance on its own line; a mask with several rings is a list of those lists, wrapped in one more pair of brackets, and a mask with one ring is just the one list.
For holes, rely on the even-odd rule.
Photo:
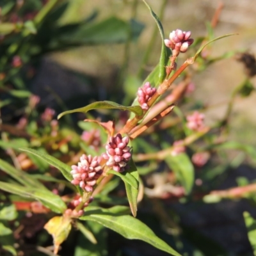
[(92, 192), (93, 186), (103, 172), (99, 163), (100, 157), (83, 154), (80, 157), (80, 162), (71, 166), (72, 171), (70, 173), (73, 176), (71, 183), (79, 185), (80, 188), (85, 189), (87, 192)]

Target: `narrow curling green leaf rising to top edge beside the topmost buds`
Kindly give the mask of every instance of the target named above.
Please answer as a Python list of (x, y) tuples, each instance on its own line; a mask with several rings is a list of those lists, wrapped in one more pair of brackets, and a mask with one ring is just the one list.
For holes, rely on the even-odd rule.
[(162, 47), (161, 47), (161, 55), (160, 55), (159, 66), (158, 66), (158, 72), (159, 72), (158, 77), (159, 77), (159, 82), (163, 82), (164, 78), (166, 77), (165, 66), (166, 66), (166, 63), (168, 62), (168, 55), (166, 51), (166, 46), (164, 44), (164, 29), (156, 13), (153, 12), (152, 8), (148, 5), (148, 3), (145, 0), (143, 0), (143, 2), (146, 4), (147, 8), (150, 10), (150, 14), (156, 21), (157, 27), (161, 35)]

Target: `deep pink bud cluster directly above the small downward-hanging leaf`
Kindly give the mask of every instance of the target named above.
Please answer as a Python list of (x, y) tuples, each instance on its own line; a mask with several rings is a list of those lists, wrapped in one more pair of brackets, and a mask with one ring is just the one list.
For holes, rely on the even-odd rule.
[(108, 145), (106, 145), (107, 152), (102, 154), (102, 157), (107, 161), (106, 165), (113, 167), (116, 172), (124, 172), (127, 162), (131, 159), (131, 148), (128, 147), (129, 137), (122, 137), (117, 134), (115, 137), (111, 136)]

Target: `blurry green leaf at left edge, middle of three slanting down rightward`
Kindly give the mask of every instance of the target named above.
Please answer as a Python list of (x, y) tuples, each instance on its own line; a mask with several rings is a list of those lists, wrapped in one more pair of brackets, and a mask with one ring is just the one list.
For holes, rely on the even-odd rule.
[(19, 181), (24, 186), (28, 186), (31, 188), (36, 187), (36, 188), (46, 189), (43, 184), (38, 182), (38, 180), (31, 178), (28, 173), (23, 172), (22, 170), (17, 170), (11, 164), (8, 164), (2, 159), (0, 159), (0, 168), (3, 172), (12, 176), (13, 179)]

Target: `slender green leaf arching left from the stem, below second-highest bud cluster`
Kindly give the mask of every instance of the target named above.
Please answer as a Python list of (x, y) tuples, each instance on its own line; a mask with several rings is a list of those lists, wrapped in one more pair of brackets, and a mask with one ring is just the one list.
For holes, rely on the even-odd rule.
[(62, 112), (62, 113), (60, 113), (60, 115), (58, 115), (58, 119), (60, 119), (61, 116), (63, 116), (63, 115), (67, 115), (70, 113), (76, 113), (76, 112), (86, 113), (87, 111), (92, 110), (92, 109), (120, 109), (120, 110), (124, 110), (124, 111), (125, 110), (131, 111), (138, 116), (143, 114), (143, 110), (141, 109), (140, 106), (125, 107), (125, 106), (122, 106), (115, 102), (104, 100), (104, 101), (93, 102), (92, 104), (89, 104), (83, 108), (77, 108), (77, 109)]

